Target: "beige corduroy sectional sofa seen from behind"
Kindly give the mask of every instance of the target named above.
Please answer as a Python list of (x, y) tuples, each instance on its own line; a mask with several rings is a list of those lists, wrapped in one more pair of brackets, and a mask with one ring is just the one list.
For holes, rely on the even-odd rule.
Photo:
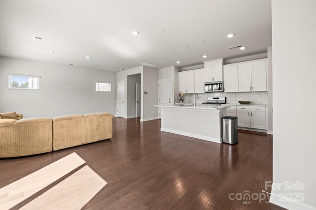
[[(0, 158), (61, 150), (112, 138), (109, 113), (22, 120), (1, 117)], [(22, 118), (21, 114), (19, 118)]]

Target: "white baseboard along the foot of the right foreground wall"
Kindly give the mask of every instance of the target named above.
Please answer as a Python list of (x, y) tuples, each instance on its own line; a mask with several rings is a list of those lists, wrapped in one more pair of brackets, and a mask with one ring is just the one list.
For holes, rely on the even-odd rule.
[(297, 200), (283, 199), (278, 193), (271, 192), (270, 203), (288, 210), (316, 210), (315, 207), (304, 204)]

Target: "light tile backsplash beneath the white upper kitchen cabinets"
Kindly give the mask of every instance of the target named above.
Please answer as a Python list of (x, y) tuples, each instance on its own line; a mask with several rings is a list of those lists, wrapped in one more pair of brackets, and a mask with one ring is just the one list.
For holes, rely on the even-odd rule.
[[(198, 95), (198, 98), (197, 98)], [(186, 94), (184, 102), (193, 103), (196, 96), (196, 103), (207, 102), (207, 97), (223, 97), (226, 96), (226, 103), (238, 104), (238, 101), (251, 101), (251, 104), (268, 104), (268, 92), (208, 92)], [(178, 100), (179, 102), (179, 96)]]

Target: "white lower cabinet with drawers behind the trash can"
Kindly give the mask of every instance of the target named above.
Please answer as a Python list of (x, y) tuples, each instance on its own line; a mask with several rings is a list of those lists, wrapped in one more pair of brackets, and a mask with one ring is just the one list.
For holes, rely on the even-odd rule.
[(239, 127), (248, 127), (266, 130), (266, 107), (237, 106)]

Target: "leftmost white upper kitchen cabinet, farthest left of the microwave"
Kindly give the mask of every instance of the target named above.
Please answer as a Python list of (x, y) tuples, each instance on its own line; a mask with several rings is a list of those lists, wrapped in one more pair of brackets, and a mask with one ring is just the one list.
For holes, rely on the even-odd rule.
[(178, 90), (185, 93), (194, 93), (194, 71), (178, 72)]

